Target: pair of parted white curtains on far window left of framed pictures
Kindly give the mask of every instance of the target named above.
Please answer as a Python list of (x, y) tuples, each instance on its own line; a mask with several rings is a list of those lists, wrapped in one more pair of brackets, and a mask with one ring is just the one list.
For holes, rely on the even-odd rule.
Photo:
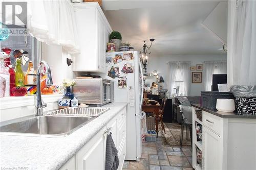
[(168, 73), (169, 73), (169, 82), (168, 82), (168, 90), (169, 93), (172, 94), (173, 88), (175, 86), (177, 69), (179, 68), (181, 71), (181, 79), (184, 82), (184, 95), (189, 94), (189, 83), (190, 83), (190, 62), (168, 62)]

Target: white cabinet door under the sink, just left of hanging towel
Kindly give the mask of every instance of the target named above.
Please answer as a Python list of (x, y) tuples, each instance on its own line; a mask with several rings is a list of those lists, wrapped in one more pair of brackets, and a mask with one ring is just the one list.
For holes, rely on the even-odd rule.
[(78, 153), (77, 169), (102, 170), (105, 168), (105, 128), (100, 130)]

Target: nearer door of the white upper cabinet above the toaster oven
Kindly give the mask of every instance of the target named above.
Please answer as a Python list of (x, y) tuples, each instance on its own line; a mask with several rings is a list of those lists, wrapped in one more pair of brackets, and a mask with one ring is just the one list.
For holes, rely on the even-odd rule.
[(105, 58), (106, 58), (106, 39), (105, 32), (106, 26), (102, 16), (97, 11), (97, 24), (98, 24), (98, 70), (105, 72)]

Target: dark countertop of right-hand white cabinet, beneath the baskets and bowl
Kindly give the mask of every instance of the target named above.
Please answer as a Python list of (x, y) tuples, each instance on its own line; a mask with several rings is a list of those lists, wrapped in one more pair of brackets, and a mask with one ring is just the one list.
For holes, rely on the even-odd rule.
[(204, 108), (202, 106), (200, 106), (200, 104), (191, 104), (191, 106), (206, 111), (208, 113), (214, 114), (216, 116), (222, 117), (222, 118), (252, 118), (252, 119), (256, 119), (256, 116), (249, 116), (249, 115), (238, 115), (236, 114), (236, 112), (221, 112), (218, 110), (210, 110), (207, 108)]

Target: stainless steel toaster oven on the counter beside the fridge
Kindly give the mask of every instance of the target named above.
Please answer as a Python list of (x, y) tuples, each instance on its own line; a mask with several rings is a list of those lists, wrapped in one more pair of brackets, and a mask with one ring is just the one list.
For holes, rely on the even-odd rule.
[(73, 93), (79, 103), (86, 103), (94, 106), (102, 106), (114, 102), (114, 82), (112, 80), (95, 79), (74, 79)]

